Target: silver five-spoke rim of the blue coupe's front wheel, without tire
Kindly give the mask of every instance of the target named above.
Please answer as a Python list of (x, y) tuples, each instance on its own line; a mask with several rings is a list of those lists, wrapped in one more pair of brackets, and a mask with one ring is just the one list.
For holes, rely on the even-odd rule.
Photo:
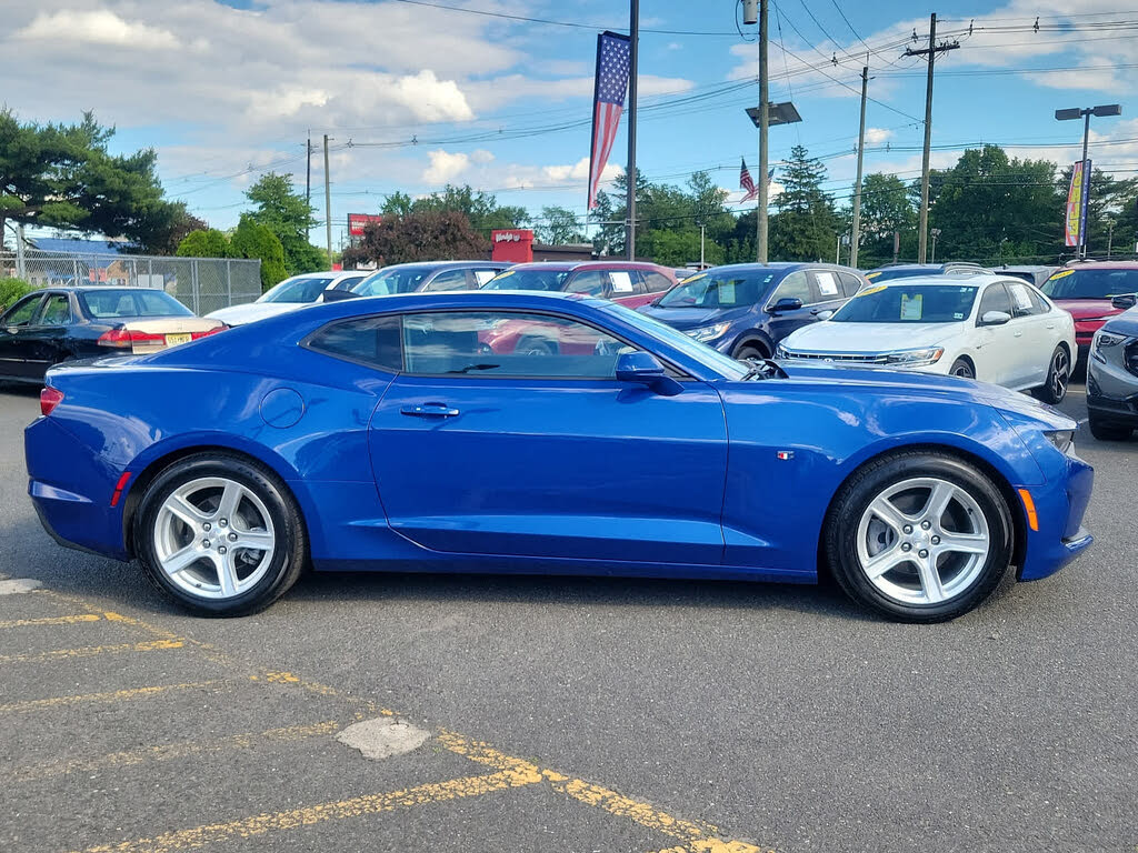
[(937, 477), (884, 489), (857, 531), (861, 571), (900, 604), (941, 604), (967, 591), (990, 549), (988, 520), (975, 498)]

